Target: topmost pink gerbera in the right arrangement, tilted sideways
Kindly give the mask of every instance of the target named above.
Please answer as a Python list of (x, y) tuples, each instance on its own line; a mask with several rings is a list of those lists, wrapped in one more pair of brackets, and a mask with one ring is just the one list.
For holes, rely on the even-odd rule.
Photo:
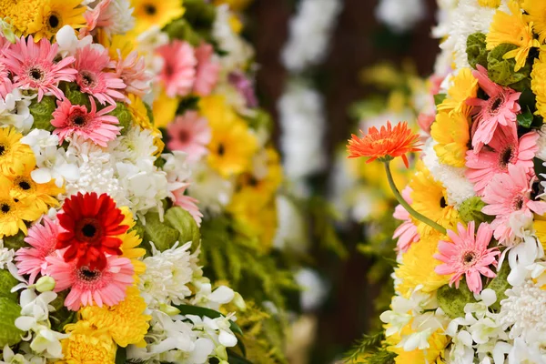
[(510, 87), (502, 87), (492, 82), (487, 69), (478, 65), (472, 75), (478, 79), (481, 89), (489, 96), (487, 100), (478, 97), (467, 100), (470, 106), (476, 106), (478, 116), (472, 126), (472, 147), (474, 152), (480, 152), (481, 147), (489, 144), (497, 126), (509, 126), (516, 122), (521, 111), (518, 104), (521, 92), (515, 92)]

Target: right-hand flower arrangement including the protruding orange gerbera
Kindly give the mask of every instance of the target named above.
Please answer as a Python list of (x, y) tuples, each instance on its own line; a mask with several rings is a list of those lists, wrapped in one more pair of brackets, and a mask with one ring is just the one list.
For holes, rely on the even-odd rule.
[[(388, 123), (349, 140), (349, 157), (384, 165), (404, 229), (385, 330), (353, 361), (546, 360), (544, 9), (461, 0), (441, 30), (455, 68), (434, 96), (430, 136)], [(390, 163), (419, 149), (399, 192)]]

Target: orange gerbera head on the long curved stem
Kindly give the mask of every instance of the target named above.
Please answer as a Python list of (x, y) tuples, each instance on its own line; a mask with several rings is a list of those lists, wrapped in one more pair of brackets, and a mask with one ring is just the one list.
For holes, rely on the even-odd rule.
[[(360, 133), (364, 134), (362, 130)], [(399, 123), (392, 128), (388, 121), (387, 127), (381, 126), (380, 130), (375, 126), (370, 127), (364, 137), (353, 134), (347, 149), (349, 158), (369, 157), (369, 163), (376, 159), (385, 162), (394, 157), (402, 157), (406, 167), (409, 167), (406, 153), (418, 152), (419, 147), (419, 136), (411, 131), (408, 123)]]

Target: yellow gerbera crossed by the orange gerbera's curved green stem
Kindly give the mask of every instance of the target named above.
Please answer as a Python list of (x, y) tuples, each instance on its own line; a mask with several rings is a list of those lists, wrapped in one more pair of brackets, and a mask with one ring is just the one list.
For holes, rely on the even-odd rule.
[[(418, 164), (417, 173), (411, 179), (410, 187), (413, 201), (411, 207), (442, 227), (453, 229), (457, 226), (460, 221), (459, 213), (455, 207), (448, 205), (446, 189), (430, 175), (430, 171), (422, 163)], [(420, 221), (415, 223), (421, 238), (436, 231)]]

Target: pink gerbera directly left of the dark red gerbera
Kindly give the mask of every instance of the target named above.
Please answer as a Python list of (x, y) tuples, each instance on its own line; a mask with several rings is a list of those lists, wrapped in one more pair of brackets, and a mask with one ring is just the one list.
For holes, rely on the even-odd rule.
[(44, 217), (43, 224), (35, 224), (28, 229), (25, 243), (31, 248), (20, 248), (15, 252), (15, 266), (20, 275), (29, 274), (29, 284), (34, 284), (38, 274), (45, 275), (46, 257), (56, 251), (56, 237), (59, 227), (49, 217)]

